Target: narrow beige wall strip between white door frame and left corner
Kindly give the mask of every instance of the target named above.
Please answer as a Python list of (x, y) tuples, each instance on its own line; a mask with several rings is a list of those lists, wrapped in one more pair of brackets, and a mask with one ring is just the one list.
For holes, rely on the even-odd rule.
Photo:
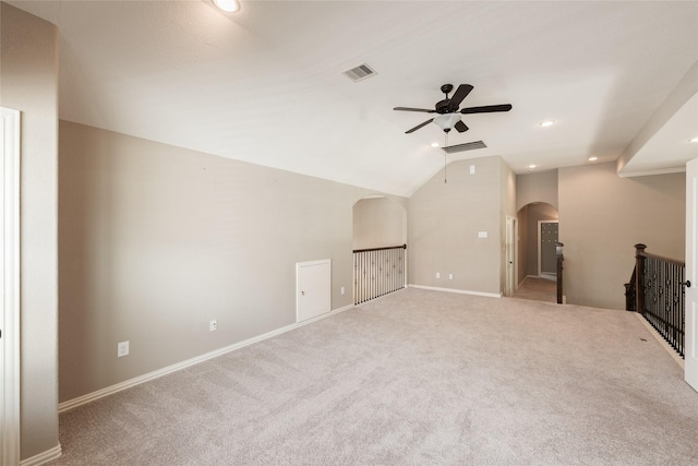
[(0, 105), (22, 112), (22, 458), (58, 446), (58, 32), (0, 3)]

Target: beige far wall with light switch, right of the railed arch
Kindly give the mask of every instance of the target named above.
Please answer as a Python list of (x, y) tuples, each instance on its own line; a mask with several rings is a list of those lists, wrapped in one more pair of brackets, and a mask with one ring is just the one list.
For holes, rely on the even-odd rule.
[[(506, 202), (501, 199), (501, 164), (498, 157), (452, 163), (447, 183), (438, 172), (409, 199), (411, 285), (501, 292), (502, 202)], [(478, 238), (478, 231), (488, 231), (488, 238)]]

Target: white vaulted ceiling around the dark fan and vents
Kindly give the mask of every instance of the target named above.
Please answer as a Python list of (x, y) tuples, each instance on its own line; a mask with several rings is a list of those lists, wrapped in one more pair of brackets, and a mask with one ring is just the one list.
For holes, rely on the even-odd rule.
[(448, 143), (488, 147), (449, 160), (521, 174), (615, 160), (698, 61), (696, 1), (9, 3), (59, 26), (62, 119), (399, 195), (443, 168), (444, 133), (393, 108), (442, 84), (514, 106), (464, 116)]

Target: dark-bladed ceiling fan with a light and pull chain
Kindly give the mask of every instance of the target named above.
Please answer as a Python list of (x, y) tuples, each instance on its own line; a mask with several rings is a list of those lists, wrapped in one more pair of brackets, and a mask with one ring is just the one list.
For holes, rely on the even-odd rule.
[(461, 84), (458, 86), (453, 97), (448, 98), (448, 93), (454, 89), (453, 84), (444, 84), (441, 86), (441, 92), (446, 94), (446, 98), (440, 100), (434, 106), (433, 110), (426, 108), (412, 108), (412, 107), (395, 107), (393, 110), (400, 111), (421, 111), (424, 113), (438, 113), (436, 117), (424, 121), (416, 126), (414, 128), (407, 130), (405, 133), (409, 134), (432, 121), (437, 124), (444, 132), (450, 131), (453, 128), (456, 129), (459, 133), (468, 131), (468, 127), (460, 119), (461, 115), (470, 115), (470, 113), (492, 113), (495, 111), (509, 111), (512, 109), (510, 104), (502, 104), (502, 105), (486, 105), (484, 107), (466, 107), (458, 109), (460, 103), (470, 94), (472, 91), (472, 86), (470, 84)]

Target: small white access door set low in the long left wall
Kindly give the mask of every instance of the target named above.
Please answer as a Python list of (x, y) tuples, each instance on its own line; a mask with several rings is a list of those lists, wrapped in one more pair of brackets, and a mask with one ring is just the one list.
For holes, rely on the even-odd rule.
[(296, 264), (296, 321), (329, 312), (332, 301), (329, 259)]

